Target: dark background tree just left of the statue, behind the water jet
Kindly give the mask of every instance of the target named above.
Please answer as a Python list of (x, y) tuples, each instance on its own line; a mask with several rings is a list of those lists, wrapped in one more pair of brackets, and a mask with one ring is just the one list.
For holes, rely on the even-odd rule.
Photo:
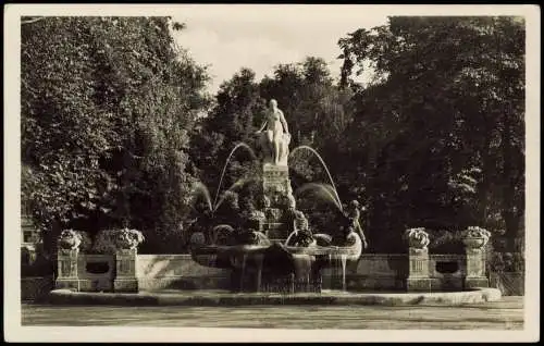
[[(256, 185), (252, 180), (259, 176), (259, 168), (254, 157), (258, 152), (255, 132), (262, 123), (264, 107), (251, 70), (242, 69), (221, 85), (217, 103), (201, 120), (201, 129), (195, 133), (190, 146), (196, 174), (213, 191), (212, 199), (215, 199), (218, 189), (223, 194), (233, 184), (240, 183), (239, 180)], [(227, 163), (238, 144), (244, 144), (244, 147), (233, 152)]]

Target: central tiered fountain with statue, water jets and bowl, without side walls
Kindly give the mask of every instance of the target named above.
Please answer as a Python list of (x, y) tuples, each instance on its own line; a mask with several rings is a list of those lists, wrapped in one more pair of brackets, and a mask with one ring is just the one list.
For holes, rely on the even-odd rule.
[[(357, 261), (366, 245), (366, 240), (361, 239), (362, 233), (358, 232), (358, 211), (344, 217), (345, 222), (337, 225), (339, 232), (334, 236), (311, 232), (307, 217), (296, 209), (296, 199), (290, 186), (290, 135), (287, 124), (281, 110), (275, 108), (274, 101), (271, 106), (269, 119), (261, 132), (258, 132), (262, 149), (262, 208), (252, 210), (249, 215), (251, 222), (239, 230), (223, 224), (212, 226), (212, 236), (194, 234), (195, 239), (212, 240), (203, 244), (194, 242), (191, 257), (202, 265), (230, 268), (231, 289), (234, 292), (319, 293), (322, 270), (337, 263), (342, 267), (342, 286), (345, 289), (346, 263)], [(263, 128), (267, 128), (265, 132), (262, 132)], [(246, 144), (236, 145), (222, 170), (221, 182), (231, 157), (238, 148), (245, 148), (256, 157)], [(342, 202), (323, 159), (308, 146), (300, 146), (293, 153), (302, 149), (319, 158), (332, 189), (323, 184), (312, 183), (301, 190), (320, 189), (342, 212)], [(200, 185), (198, 188), (202, 189)], [(211, 207), (212, 211), (218, 207), (219, 194), (218, 189), (214, 206)], [(219, 237), (218, 232), (221, 232), (223, 237)]]

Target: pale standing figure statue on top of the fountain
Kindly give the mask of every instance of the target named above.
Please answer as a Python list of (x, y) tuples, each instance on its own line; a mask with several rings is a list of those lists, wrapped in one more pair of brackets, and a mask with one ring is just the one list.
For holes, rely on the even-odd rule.
[(257, 134), (262, 136), (261, 144), (265, 149), (265, 160), (270, 160), (275, 165), (287, 164), (287, 151), (290, 141), (287, 122), (282, 110), (277, 108), (276, 100), (270, 100), (269, 104), (267, 119)]

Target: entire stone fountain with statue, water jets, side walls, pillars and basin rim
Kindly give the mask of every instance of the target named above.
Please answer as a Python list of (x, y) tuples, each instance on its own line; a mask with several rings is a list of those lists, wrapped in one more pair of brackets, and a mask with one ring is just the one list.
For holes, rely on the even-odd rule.
[[(111, 238), (113, 245), (109, 255), (89, 255), (84, 247), (79, 251), (79, 234), (69, 230), (59, 239), (57, 289), (48, 299), (71, 305), (137, 301), (188, 306), (459, 305), (500, 299), (500, 291), (489, 288), (485, 277), (485, 245), (491, 235), (480, 227), (460, 234), (465, 255), (430, 254), (423, 227), (406, 230), (407, 254), (362, 255), (367, 239), (359, 224), (358, 202), (343, 207), (331, 172), (314, 149), (300, 146), (289, 155), (287, 123), (275, 103), (271, 106), (258, 132), (259, 158), (247, 144), (237, 144), (227, 156), (213, 200), (203, 184), (195, 184), (193, 197), (200, 201), (200, 215), (194, 223), (190, 256), (139, 256), (137, 245), (144, 238), (127, 228), (106, 231), (104, 238)], [(259, 160), (260, 174), (240, 177), (221, 191), (230, 160), (239, 149), (247, 150), (254, 162)], [(288, 163), (298, 151), (319, 159), (330, 184), (308, 183), (293, 190)], [(256, 198), (254, 191), (240, 208), (234, 191), (249, 182), (259, 182), (259, 193)], [(330, 234), (313, 233), (308, 217), (297, 209), (295, 196), (308, 191), (330, 202), (341, 215), (329, 224)], [(109, 270), (86, 272), (95, 262)], [(199, 265), (193, 265), (196, 263)], [(201, 265), (211, 273), (202, 273)], [(357, 268), (347, 274), (350, 267)], [(445, 267), (453, 270), (445, 272)], [(100, 282), (107, 285), (98, 285)], [(110, 292), (99, 292), (99, 286)], [(165, 287), (175, 293), (162, 292)]]

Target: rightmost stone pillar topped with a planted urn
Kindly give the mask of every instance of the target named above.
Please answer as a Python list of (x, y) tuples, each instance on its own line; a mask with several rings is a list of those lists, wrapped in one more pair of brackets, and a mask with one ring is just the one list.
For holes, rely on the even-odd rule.
[(490, 286), (485, 276), (485, 245), (490, 236), (490, 232), (480, 227), (468, 227), (462, 234), (467, 261), (465, 288)]

